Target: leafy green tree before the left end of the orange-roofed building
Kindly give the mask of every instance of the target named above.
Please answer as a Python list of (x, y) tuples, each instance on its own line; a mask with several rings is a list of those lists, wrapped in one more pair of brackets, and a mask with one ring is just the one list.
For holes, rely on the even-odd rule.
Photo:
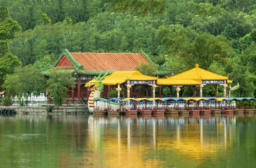
[(67, 97), (68, 91), (75, 87), (75, 78), (70, 72), (53, 70), (49, 74), (48, 89), (50, 96), (53, 97), (55, 106), (61, 106)]

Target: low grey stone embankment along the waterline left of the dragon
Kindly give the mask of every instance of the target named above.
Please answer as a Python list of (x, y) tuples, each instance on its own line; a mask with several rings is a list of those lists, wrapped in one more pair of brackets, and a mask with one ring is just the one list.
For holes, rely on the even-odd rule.
[(0, 111), (14, 110), (16, 114), (82, 114), (88, 113), (87, 106), (0, 106)]

